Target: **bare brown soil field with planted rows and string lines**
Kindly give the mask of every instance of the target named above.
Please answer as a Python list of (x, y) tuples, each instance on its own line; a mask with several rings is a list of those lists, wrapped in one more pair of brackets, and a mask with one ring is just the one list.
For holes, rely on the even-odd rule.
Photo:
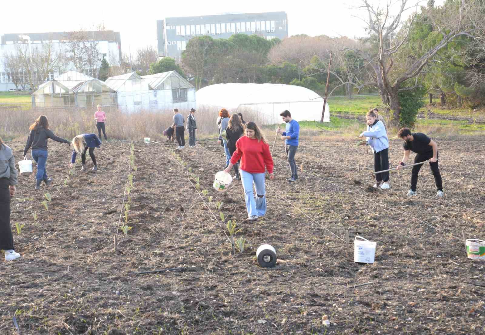
[[(249, 223), (241, 182), (212, 188), (225, 165), (215, 141), (180, 152), (135, 142), (123, 234), (129, 142), (103, 142), (98, 172), (73, 174), (70, 148), (50, 142), (54, 183), (35, 191), (33, 175), (19, 176), (12, 200), (22, 257), (0, 265), (0, 334), (485, 334), (485, 262), (467, 259), (462, 239), (485, 237), (485, 144), (437, 143), (442, 199), (429, 166), (417, 197), (406, 197), (410, 169), (375, 191), (372, 154), (352, 141), (302, 141), (289, 184), (278, 140), (268, 213)], [(24, 143), (7, 144), (19, 160)], [(391, 167), (402, 154), (392, 141)], [(231, 254), (219, 212), (242, 229), (242, 253)], [(373, 264), (354, 263), (357, 234), (377, 242)], [(274, 268), (256, 262), (264, 243)], [(182, 269), (130, 274), (168, 268)]]

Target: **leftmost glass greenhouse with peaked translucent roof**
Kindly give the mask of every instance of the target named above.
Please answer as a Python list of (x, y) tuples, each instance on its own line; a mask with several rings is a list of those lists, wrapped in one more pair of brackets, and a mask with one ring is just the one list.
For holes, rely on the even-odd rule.
[(33, 107), (93, 107), (115, 104), (116, 92), (104, 82), (77, 71), (67, 71), (32, 93)]

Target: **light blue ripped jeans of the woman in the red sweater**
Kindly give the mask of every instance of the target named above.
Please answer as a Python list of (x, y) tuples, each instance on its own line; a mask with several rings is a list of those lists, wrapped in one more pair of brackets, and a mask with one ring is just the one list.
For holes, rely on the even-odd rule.
[[(266, 214), (266, 192), (264, 189), (265, 173), (249, 173), (241, 170), (244, 199), (246, 200), (247, 216), (257, 215), (262, 217)], [(253, 194), (253, 184), (256, 188), (256, 197)], [(262, 196), (262, 197), (259, 197)]]

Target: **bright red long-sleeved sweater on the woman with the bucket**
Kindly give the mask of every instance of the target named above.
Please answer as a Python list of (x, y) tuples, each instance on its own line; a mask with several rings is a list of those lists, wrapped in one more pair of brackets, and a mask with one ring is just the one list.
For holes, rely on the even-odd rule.
[(231, 163), (241, 158), (241, 169), (249, 173), (264, 173), (264, 166), (273, 173), (273, 158), (270, 146), (263, 141), (241, 136), (236, 142), (236, 151), (232, 154)]

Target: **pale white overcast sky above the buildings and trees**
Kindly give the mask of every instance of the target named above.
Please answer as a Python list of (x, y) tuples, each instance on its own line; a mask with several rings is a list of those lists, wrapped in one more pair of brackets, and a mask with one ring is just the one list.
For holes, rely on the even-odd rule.
[[(419, 0), (409, 3), (416, 1)], [(358, 18), (364, 17), (364, 12), (352, 8), (359, 3), (360, 0), (8, 1), (1, 5), (0, 35), (92, 29), (104, 23), (107, 30), (121, 33), (121, 49), (128, 53), (129, 49), (134, 52), (147, 45), (157, 48), (157, 20), (165, 17), (282, 11), (288, 15), (290, 36), (305, 33), (356, 38), (365, 35), (364, 23)], [(425, 5), (426, 1), (420, 4)]]

